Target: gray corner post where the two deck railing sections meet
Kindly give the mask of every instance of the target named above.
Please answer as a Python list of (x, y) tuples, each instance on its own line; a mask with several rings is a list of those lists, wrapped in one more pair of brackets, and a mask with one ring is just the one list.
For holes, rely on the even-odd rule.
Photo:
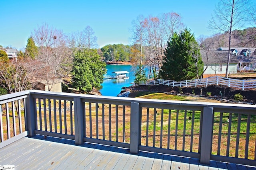
[(26, 99), (26, 116), (27, 121), (26, 123), (28, 126), (26, 127), (26, 130), (28, 130), (28, 136), (32, 137), (36, 135), (34, 133), (34, 130), (36, 130), (36, 104), (35, 99), (32, 97), (31, 94), (28, 94), (28, 98)]

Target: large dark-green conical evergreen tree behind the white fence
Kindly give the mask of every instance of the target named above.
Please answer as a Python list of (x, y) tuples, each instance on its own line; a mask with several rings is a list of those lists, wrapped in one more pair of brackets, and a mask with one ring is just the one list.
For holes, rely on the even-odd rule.
[(167, 80), (190, 80), (203, 72), (199, 45), (188, 29), (174, 33), (164, 53), (160, 76)]

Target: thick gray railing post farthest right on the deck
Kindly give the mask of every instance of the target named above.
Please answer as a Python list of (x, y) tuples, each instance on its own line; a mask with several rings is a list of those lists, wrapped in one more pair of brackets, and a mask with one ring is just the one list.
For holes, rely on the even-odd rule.
[(200, 163), (210, 164), (210, 155), (212, 147), (212, 121), (213, 121), (213, 107), (204, 107), (203, 121), (202, 121), (202, 137), (200, 148)]

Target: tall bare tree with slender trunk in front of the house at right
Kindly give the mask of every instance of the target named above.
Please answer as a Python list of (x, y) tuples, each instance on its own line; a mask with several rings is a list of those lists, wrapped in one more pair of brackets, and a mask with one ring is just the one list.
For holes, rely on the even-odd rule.
[(209, 21), (209, 28), (229, 34), (229, 53), (225, 77), (228, 77), (232, 30), (244, 25), (246, 15), (250, 11), (249, 6), (250, 0), (220, 0)]

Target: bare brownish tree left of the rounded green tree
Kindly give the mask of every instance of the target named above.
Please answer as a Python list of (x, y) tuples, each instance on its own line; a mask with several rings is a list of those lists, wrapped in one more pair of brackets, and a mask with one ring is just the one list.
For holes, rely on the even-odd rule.
[(38, 79), (45, 80), (49, 91), (52, 84), (70, 72), (71, 51), (66, 46), (66, 37), (61, 30), (42, 24), (32, 33), (34, 41), (39, 47)]

